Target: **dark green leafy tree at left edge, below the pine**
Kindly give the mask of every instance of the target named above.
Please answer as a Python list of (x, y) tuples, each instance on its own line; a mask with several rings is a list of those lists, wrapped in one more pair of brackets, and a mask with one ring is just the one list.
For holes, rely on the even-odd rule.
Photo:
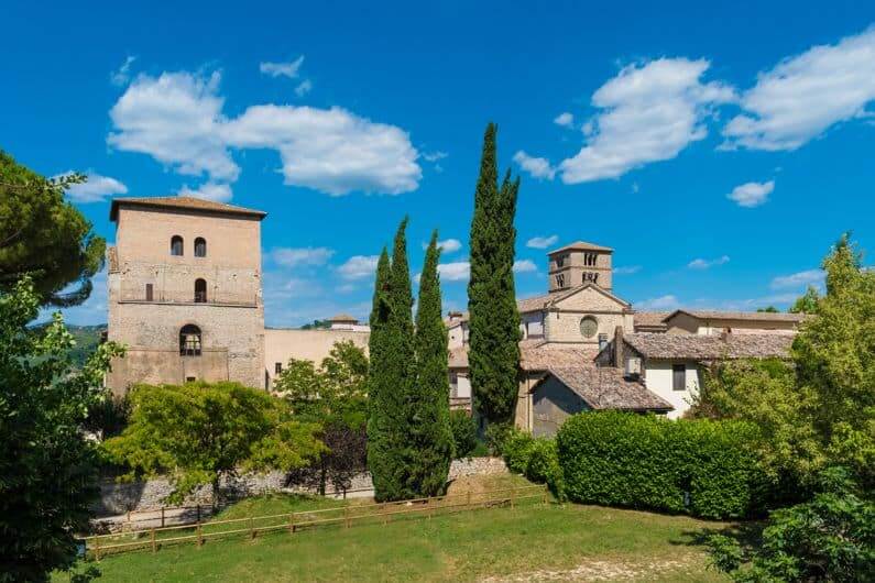
[[(2, 252), (0, 252), (2, 253)], [(59, 314), (28, 328), (44, 297), (29, 278), (0, 292), (0, 581), (44, 581), (76, 560), (73, 534), (88, 527), (97, 457), (81, 431), (105, 398), (108, 342), (76, 366)]]

